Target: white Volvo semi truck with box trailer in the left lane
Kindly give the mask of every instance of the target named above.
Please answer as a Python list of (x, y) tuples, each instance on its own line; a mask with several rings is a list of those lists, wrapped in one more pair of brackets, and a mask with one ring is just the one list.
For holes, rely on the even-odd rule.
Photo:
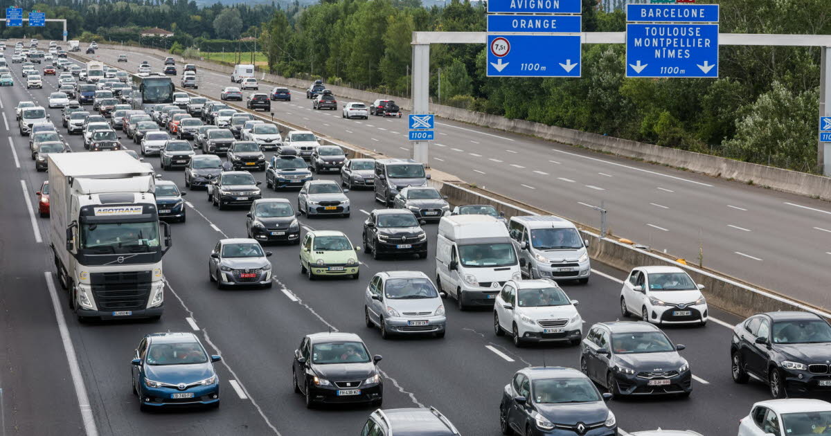
[(50, 237), (57, 277), (80, 320), (158, 319), (165, 295), (154, 171), (123, 151), (49, 154)]

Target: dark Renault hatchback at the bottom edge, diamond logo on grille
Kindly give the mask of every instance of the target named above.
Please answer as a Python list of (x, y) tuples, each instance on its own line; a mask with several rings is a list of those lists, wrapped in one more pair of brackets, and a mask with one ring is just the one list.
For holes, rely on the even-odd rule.
[(529, 367), (519, 370), (502, 389), (499, 428), (524, 436), (580, 434), (616, 436), (615, 414), (586, 375), (572, 368)]

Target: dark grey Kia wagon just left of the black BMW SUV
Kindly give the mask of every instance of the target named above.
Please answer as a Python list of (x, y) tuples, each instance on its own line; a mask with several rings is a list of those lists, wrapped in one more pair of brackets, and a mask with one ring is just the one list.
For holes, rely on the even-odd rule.
[(580, 370), (614, 397), (692, 392), (690, 364), (663, 331), (644, 321), (601, 322), (580, 346)]

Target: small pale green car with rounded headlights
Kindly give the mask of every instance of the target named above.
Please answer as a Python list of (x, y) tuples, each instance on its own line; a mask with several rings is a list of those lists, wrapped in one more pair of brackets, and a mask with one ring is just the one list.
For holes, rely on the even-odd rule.
[(360, 264), (355, 247), (347, 235), (334, 230), (306, 233), (300, 246), (300, 272), (309, 280), (317, 276), (352, 276), (358, 278)]

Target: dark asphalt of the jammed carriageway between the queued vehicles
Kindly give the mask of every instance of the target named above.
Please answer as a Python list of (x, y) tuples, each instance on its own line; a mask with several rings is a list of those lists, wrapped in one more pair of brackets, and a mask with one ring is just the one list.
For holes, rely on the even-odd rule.
[[(371, 354), (384, 356), (380, 364), (384, 408), (432, 405), (465, 435), (499, 434), (499, 398), (514, 371), (543, 363), (578, 366), (578, 347), (516, 349), (509, 338), (494, 336), (490, 311), (460, 312), (453, 301), (445, 301), (448, 331), (444, 339), (381, 340), (377, 330), (363, 324), (366, 284), (376, 272), (389, 270), (417, 270), (434, 277), (432, 253), (424, 260), (374, 261), (361, 252), (360, 280), (309, 282), (300, 273), (297, 246), (269, 246), (266, 249), (274, 252), (270, 257), (272, 289), (220, 291), (207, 277), (209, 251), (219, 238), (245, 236), (245, 209), (220, 212), (209, 204), (204, 191), (188, 192), (184, 199), (189, 219), (172, 225), (173, 247), (164, 258), (168, 287), (161, 321), (79, 324), (66, 308), (66, 294), (53, 277), (48, 218), (37, 218), (32, 209), (37, 201), (34, 193), (47, 174), (35, 171), (27, 138), (17, 132), (14, 116), (14, 106), (20, 100), (34, 100), (46, 107), (57, 79), (48, 76), (45, 89), (27, 91), (21, 85), (18, 64), (12, 65), (12, 72), (17, 84), (0, 89), (0, 130), (7, 136), (2, 139), (7, 144), (2, 145), (4, 159), (0, 159), (4, 199), (0, 218), (7, 228), (0, 233), (0, 274), (6, 285), (2, 292), (5, 310), (0, 312), (4, 329), (0, 335), (3, 434), (89, 436), (91, 427), (103, 435), (358, 434), (372, 409), (309, 410), (292, 390), (293, 351), (303, 335), (328, 329), (355, 332), (366, 341)], [(307, 101), (297, 103), (306, 105)], [(66, 135), (60, 128), (61, 111), (48, 112), (71, 148), (85, 152), (79, 136)], [(130, 140), (122, 142), (138, 149)], [(158, 158), (145, 161), (160, 168)], [(184, 190), (181, 170), (160, 174)], [(263, 173), (254, 175), (264, 180)], [(665, 186), (677, 188), (675, 184)], [(296, 203), (296, 192), (263, 189), (263, 193)], [(348, 196), (354, 208), (352, 218), (301, 218), (303, 228), (341, 230), (360, 243), (366, 213), (379, 204), (370, 192), (351, 191)], [(425, 225), (431, 244), (435, 243), (436, 227)], [(618, 318), (620, 278), (626, 275), (599, 263), (594, 267), (595, 275), (588, 285), (563, 284), (568, 295), (580, 301), (578, 309), (587, 323), (584, 332), (595, 322)], [(612, 401), (610, 408), (621, 429), (734, 433), (738, 419), (747, 414), (750, 405), (769, 398), (764, 385), (735, 385), (730, 378), (729, 327), (738, 321), (711, 308), (711, 322), (705, 327), (666, 328), (672, 340), (687, 347), (681, 354), (696, 375), (691, 398)], [(140, 338), (155, 331), (195, 331), (209, 352), (223, 355), (218, 364), (223, 397), (220, 409), (139, 411), (130, 391), (130, 359)], [(76, 358), (67, 358), (66, 350), (70, 349)], [(71, 373), (73, 362), (79, 369), (76, 375)], [(84, 416), (91, 419), (86, 430)]]

